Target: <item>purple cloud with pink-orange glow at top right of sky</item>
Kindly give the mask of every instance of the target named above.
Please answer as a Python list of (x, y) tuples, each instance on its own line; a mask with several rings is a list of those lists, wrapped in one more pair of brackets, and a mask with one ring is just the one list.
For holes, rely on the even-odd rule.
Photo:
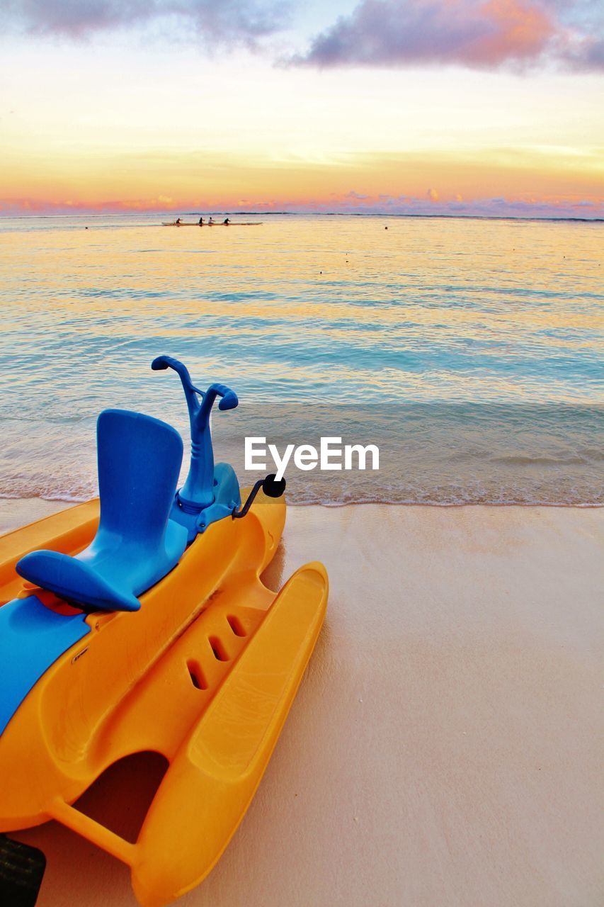
[(361, 0), (293, 63), (523, 68), (545, 58), (604, 68), (601, 7), (592, 0)]

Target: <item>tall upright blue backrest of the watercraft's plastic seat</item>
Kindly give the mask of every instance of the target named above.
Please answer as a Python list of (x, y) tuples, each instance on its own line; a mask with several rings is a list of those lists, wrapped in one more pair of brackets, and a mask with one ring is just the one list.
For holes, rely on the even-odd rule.
[(182, 463), (180, 434), (150, 415), (106, 409), (97, 422), (100, 532), (161, 542)]

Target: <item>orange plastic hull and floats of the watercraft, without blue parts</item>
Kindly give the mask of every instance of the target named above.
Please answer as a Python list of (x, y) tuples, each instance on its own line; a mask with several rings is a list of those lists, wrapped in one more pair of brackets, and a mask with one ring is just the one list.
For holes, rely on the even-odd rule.
[[(67, 825), (132, 867), (144, 907), (209, 873), (248, 808), (315, 646), (327, 600), (322, 564), (275, 593), (259, 579), (285, 522), (258, 495), (245, 520), (213, 523), (135, 613), (95, 613), (0, 736), (0, 831)], [(81, 551), (98, 502), (0, 539), (0, 601), (24, 589), (15, 562), (36, 548)], [(157, 752), (169, 764), (135, 844), (74, 808), (113, 763)]]

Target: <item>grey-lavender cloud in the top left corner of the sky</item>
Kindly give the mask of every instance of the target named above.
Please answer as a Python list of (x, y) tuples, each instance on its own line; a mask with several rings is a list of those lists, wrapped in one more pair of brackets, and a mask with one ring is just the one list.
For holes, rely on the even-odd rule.
[(29, 34), (86, 37), (95, 32), (180, 19), (201, 38), (254, 44), (280, 30), (289, 4), (278, 0), (3, 0), (0, 24)]

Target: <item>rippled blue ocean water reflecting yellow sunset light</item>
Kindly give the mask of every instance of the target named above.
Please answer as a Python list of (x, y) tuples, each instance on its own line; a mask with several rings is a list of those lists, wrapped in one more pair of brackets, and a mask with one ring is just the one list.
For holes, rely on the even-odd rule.
[(1, 496), (91, 497), (107, 406), (186, 441), (166, 353), (238, 393), (213, 433), (242, 483), (246, 435), (379, 446), (288, 469), (290, 502), (604, 502), (604, 223), (171, 217), (0, 219)]

